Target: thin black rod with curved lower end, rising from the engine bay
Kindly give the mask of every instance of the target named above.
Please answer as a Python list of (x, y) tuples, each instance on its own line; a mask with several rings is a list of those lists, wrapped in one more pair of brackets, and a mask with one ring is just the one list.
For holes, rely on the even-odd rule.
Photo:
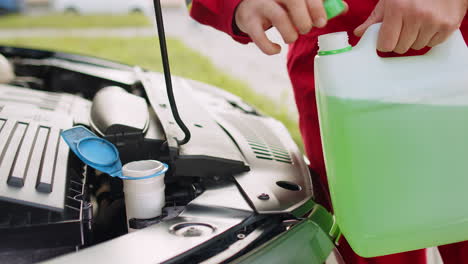
[(169, 58), (167, 56), (167, 46), (166, 46), (166, 36), (164, 33), (164, 24), (161, 12), (161, 2), (160, 0), (154, 0), (154, 12), (156, 14), (156, 26), (158, 28), (158, 36), (159, 36), (159, 48), (161, 50), (161, 58), (163, 62), (163, 69), (164, 69), (164, 79), (166, 80), (166, 90), (167, 90), (167, 97), (169, 99), (169, 104), (171, 106), (172, 115), (174, 116), (174, 120), (176, 121), (179, 128), (184, 132), (184, 138), (179, 140), (176, 138), (177, 143), (179, 146), (186, 144), (190, 141), (190, 130), (184, 124), (182, 119), (180, 118), (179, 111), (177, 110), (177, 105), (175, 103), (174, 98), (174, 91), (172, 89), (172, 80), (171, 80), (171, 71), (169, 69)]

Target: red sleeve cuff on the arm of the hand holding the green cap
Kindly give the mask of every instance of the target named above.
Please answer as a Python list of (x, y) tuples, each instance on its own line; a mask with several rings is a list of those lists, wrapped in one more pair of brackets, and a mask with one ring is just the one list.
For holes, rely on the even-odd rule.
[(243, 33), (234, 32), (234, 12), (242, 0), (193, 0), (188, 3), (190, 16), (196, 21), (212, 26), (247, 44), (252, 40)]

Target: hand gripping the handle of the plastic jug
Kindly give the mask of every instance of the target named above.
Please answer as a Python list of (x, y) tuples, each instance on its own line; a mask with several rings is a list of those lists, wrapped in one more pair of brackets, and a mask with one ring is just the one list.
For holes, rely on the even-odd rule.
[(370, 25), (383, 22), (377, 49), (403, 54), (444, 42), (460, 27), (467, 8), (468, 0), (380, 0), (354, 34), (360, 37)]

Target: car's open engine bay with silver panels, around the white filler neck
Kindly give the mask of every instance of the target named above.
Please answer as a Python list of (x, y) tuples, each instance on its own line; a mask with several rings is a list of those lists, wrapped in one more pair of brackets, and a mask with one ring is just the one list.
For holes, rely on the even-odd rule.
[[(179, 145), (162, 74), (59, 52), (0, 54), (14, 71), (0, 84), (0, 262), (73, 253), (56, 260), (83, 263), (100, 252), (96, 262), (198, 263), (245, 236), (256, 236), (253, 247), (284, 231), (313, 196), (286, 128), (237, 96), (173, 77), (192, 133)], [(77, 125), (112, 142), (123, 164), (169, 165), (160, 217), (127, 222), (122, 180), (86, 166), (60, 138)]]

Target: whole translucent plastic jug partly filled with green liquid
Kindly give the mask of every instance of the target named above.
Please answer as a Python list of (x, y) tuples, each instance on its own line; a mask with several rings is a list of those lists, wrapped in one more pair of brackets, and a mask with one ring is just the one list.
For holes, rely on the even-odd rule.
[(381, 58), (380, 25), (351, 47), (319, 37), (315, 77), (332, 202), (373, 257), (468, 240), (468, 49), (460, 31), (422, 56)]

